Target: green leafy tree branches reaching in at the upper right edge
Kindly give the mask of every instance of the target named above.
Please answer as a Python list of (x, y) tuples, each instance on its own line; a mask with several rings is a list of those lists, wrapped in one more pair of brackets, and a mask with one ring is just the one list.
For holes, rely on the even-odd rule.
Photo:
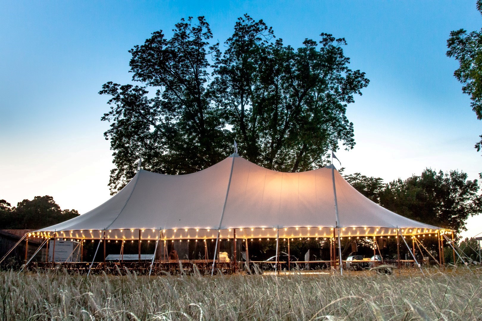
[[(477, 0), (477, 10), (482, 14), (482, 0)], [(464, 85), (462, 91), (470, 95), (477, 119), (482, 119), (482, 29), (470, 33), (465, 29), (450, 32), (447, 47), (447, 56), (459, 62), (454, 76)], [(482, 135), (480, 137), (482, 139)], [(478, 152), (482, 149), (482, 140), (475, 148)], [(480, 176), (482, 178), (482, 173)]]

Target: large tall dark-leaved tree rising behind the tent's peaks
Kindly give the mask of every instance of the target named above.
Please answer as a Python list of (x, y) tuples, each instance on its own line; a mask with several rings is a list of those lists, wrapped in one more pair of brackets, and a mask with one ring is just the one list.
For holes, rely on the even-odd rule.
[(353, 148), (345, 112), (369, 80), (348, 68), (345, 39), (322, 33), (293, 48), (248, 15), (224, 46), (212, 38), (204, 17), (181, 19), (171, 38), (156, 31), (130, 50), (142, 85), (103, 85), (111, 193), (132, 179), (139, 158), (155, 172), (190, 173), (225, 158), (233, 139), (248, 160), (293, 172), (323, 165), (339, 142)]

